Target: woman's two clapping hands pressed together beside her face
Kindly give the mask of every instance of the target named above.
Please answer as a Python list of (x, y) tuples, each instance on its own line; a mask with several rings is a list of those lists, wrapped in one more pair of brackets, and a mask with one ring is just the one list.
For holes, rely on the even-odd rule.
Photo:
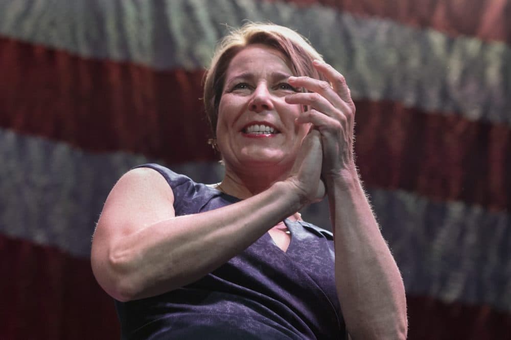
[(309, 107), (296, 119), (313, 127), (302, 143), (291, 176), (310, 202), (328, 194), (325, 183), (357, 177), (353, 159), (355, 104), (350, 89), (331, 65), (318, 60), (313, 65), (328, 82), (308, 76), (289, 77), (290, 85), (310, 92), (285, 97), (287, 103)]

